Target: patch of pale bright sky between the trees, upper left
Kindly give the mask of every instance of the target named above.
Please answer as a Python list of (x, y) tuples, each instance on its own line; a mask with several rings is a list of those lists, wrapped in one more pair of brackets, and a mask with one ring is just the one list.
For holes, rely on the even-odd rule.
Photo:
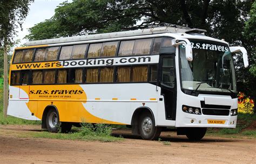
[[(54, 15), (54, 11), (57, 6), (64, 1), (66, 0), (35, 0), (34, 3), (31, 3), (29, 6), (30, 11), (28, 16), (22, 25), (23, 31), (21, 31), (21, 28), (16, 29), (18, 32), (15, 40), (21, 40), (18, 46), (25, 44), (27, 41), (23, 38), (25, 35), (29, 34), (28, 28), (33, 27), (37, 23), (43, 22), (45, 19), (50, 19)], [(71, 2), (71, 0), (68, 0), (68, 2)]]

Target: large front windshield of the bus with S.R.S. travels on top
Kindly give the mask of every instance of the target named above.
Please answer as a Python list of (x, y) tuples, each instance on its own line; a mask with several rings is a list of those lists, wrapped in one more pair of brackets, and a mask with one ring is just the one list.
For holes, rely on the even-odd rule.
[(228, 45), (206, 40), (190, 41), (193, 61), (187, 61), (184, 45), (179, 46), (181, 88), (194, 91), (237, 92)]

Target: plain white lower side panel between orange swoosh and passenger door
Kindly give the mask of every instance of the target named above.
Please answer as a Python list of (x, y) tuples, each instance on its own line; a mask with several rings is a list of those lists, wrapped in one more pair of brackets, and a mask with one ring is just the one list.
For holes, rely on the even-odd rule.
[[(148, 107), (157, 119), (158, 91), (149, 83), (84, 84), (86, 111), (113, 124), (131, 124), (137, 108)], [(84, 116), (83, 114), (81, 116)], [(86, 117), (85, 117), (86, 118)], [(105, 122), (104, 122), (105, 123)]]

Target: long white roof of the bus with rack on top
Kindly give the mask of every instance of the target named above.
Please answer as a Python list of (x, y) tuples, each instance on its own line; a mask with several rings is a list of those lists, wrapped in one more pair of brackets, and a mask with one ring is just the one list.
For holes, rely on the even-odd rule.
[(25, 45), (26, 46), (48, 45), (48, 44), (59, 44), (59, 43), (73, 42), (73, 41), (131, 37), (136, 35), (149, 35), (149, 34), (159, 34), (159, 33), (198, 33), (198, 34), (204, 35), (205, 32), (206, 30), (202, 30), (198, 28), (189, 28), (184, 26), (165, 24), (165, 26), (151, 26), (149, 28), (133, 30), (133, 31), (121, 31), (121, 32), (100, 33), (100, 34), (91, 34), (91, 35), (80, 35), (75, 37), (28, 41), (26, 42)]

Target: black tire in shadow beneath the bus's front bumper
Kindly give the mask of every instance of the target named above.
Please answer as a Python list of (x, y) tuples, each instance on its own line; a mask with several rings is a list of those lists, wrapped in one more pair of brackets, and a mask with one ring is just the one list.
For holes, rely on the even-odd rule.
[(190, 140), (200, 140), (205, 136), (207, 127), (190, 127), (186, 129), (186, 136)]

